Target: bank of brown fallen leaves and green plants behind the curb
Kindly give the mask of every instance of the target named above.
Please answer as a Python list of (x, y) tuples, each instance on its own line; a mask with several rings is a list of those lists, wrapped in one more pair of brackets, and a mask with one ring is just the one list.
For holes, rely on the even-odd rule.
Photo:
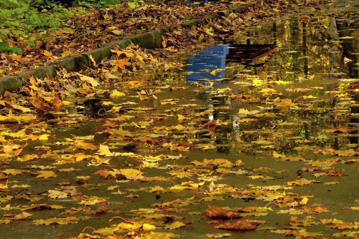
[[(137, 1), (136, 1), (137, 2)], [(0, 5), (0, 77), (36, 66), (46, 66), (70, 55), (103, 47), (126, 36), (171, 26), (163, 45), (187, 47), (188, 41), (208, 42), (214, 36), (228, 38), (234, 30), (253, 22), (283, 14), (288, 9), (316, 6), (319, 1), (183, 1), (128, 2), (64, 8), (53, 5), (40, 11), (28, 1), (8, 1)], [(219, 10), (253, 5), (248, 13), (217, 18), (195, 33), (183, 34), (175, 24), (215, 16)], [(258, 19), (259, 18), (259, 19)]]

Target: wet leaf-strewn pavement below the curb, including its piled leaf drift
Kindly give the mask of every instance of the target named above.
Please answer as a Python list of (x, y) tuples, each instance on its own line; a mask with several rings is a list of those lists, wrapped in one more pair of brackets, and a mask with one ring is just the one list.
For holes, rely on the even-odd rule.
[(358, 18), (333, 14), (247, 29), (277, 43), (259, 68), (131, 45), (5, 93), (1, 236), (357, 238), (358, 30), (331, 29)]

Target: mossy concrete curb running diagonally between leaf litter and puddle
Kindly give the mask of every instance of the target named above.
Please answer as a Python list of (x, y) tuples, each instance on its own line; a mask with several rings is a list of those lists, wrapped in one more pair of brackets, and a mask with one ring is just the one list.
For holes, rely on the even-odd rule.
[[(255, 5), (255, 4), (253, 4)], [(239, 6), (237, 8), (231, 8), (229, 10), (223, 10), (217, 12), (217, 17), (228, 17), (231, 13), (243, 13), (247, 11), (251, 5), (248, 6)], [(185, 21), (183, 23), (175, 25), (176, 28), (191, 28), (194, 25), (200, 23), (206, 23), (210, 20), (214, 20), (216, 16), (210, 16), (204, 19), (193, 19)], [(27, 70), (25, 72), (19, 73), (18, 75), (11, 75), (8, 77), (0, 78), (0, 94), (3, 95), (5, 91), (14, 92), (18, 88), (26, 84), (31, 77), (36, 78), (53, 78), (56, 76), (56, 69), (66, 69), (68, 71), (77, 72), (80, 70), (86, 70), (88, 67), (93, 67), (93, 62), (90, 58), (92, 56), (96, 64), (100, 63), (103, 58), (111, 57), (111, 49), (114, 46), (125, 48), (131, 43), (134, 45), (139, 44), (142, 48), (155, 49), (162, 48), (163, 34), (170, 31), (170, 27), (159, 28), (156, 30), (149, 31), (148, 33), (137, 34), (134, 36), (129, 36), (127, 38), (117, 40), (115, 42), (109, 43), (106, 47), (97, 48), (84, 52), (80, 55), (75, 55), (67, 57), (60, 62), (54, 63), (53, 65), (47, 67), (38, 67), (35, 69)]]

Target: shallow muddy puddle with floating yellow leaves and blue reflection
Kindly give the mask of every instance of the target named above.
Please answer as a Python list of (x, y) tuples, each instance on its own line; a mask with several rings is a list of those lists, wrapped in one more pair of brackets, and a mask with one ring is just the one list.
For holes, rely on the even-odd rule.
[[(109, 146), (111, 152), (134, 155), (100, 156), (108, 162), (85, 160), (64, 164), (48, 156), (4, 164), (2, 170), (11, 167), (28, 172), (11, 176), (9, 187), (30, 186), (2, 193), (0, 206), (4, 211), (15, 214), (31, 204), (45, 204), (48, 190), (74, 190), (74, 195), (54, 197), (48, 202), (48, 205), (61, 205), (61, 209), (27, 210), (33, 214), (31, 219), (0, 225), (0, 238), (58, 238), (64, 232), (77, 236), (88, 226), (99, 230), (123, 222), (119, 218), (109, 221), (114, 216), (134, 224), (155, 225), (155, 232), (186, 238), (208, 238), (206, 234), (213, 233), (231, 233), (232, 237), (241, 238), (284, 238), (281, 230), (303, 228), (318, 237), (319, 233), (327, 237), (340, 233), (341, 230), (328, 228), (320, 219), (359, 220), (357, 211), (350, 209), (359, 206), (357, 156), (355, 153), (345, 156), (348, 152), (345, 150), (358, 148), (355, 91), (358, 82), (353, 80), (359, 78), (357, 19), (355, 12), (335, 18), (313, 14), (299, 20), (297, 16), (281, 19), (238, 33), (231, 42), (180, 55), (183, 68), (179, 71), (157, 71), (131, 79), (148, 81), (147, 85), (131, 88), (125, 83), (118, 84), (118, 91), (125, 92), (126, 97), (112, 99), (105, 92), (96, 99), (81, 102), (83, 107), (67, 108), (69, 119), (77, 122), (59, 121), (57, 115), (52, 116), (54, 119), (47, 121), (50, 127), (46, 130), (55, 139), (32, 141), (23, 155), (41, 155), (51, 150), (63, 158), (78, 152), (95, 156), (97, 150), (74, 150), (73, 145), (79, 141), (101, 143)], [(137, 94), (140, 90), (147, 91), (143, 96), (149, 99), (140, 100)], [(289, 105), (282, 102), (284, 99), (290, 99)], [(106, 101), (112, 104), (103, 104)], [(108, 112), (114, 105), (122, 108)], [(118, 116), (133, 117), (117, 122), (115, 127), (121, 126), (131, 136), (113, 137), (104, 132), (106, 128), (98, 128)], [(91, 140), (75, 138), (91, 135), (94, 135)], [(215, 158), (233, 164), (241, 160), (243, 164), (225, 167), (194, 162)], [(57, 177), (43, 179), (29, 174), (41, 170), (40, 166), (57, 172)], [(76, 171), (59, 172), (70, 167)], [(310, 169), (306, 171), (303, 167)], [(105, 179), (94, 174), (112, 168), (140, 169), (145, 178), (128, 180), (125, 176), (108, 176)], [(339, 170), (340, 176), (328, 175), (330, 170)], [(320, 182), (287, 185), (302, 178)], [(56, 185), (62, 181), (70, 185)], [(186, 189), (175, 187), (182, 183)], [(252, 194), (254, 191), (259, 194)], [(287, 196), (270, 200), (266, 199), (267, 191)], [(6, 195), (12, 198), (7, 200)], [(83, 203), (84, 196), (101, 199)], [(305, 197), (306, 205), (288, 206)], [(229, 219), (202, 216), (207, 204), (233, 211), (266, 206), (271, 211), (245, 216), (244, 219), (262, 222), (256, 230), (210, 230), (216, 220), (229, 223)], [(16, 206), (19, 208), (11, 209)], [(93, 214), (86, 214), (85, 209), (71, 210), (84, 206), (107, 209), (106, 213)], [(327, 211), (304, 210), (317, 206)], [(292, 211), (284, 211), (289, 209)], [(29, 224), (33, 220), (67, 216), (89, 218), (82, 218), (76, 224)], [(178, 218), (169, 219), (171, 216)], [(312, 216), (317, 224), (296, 227), (289, 224), (291, 216), (305, 221), (309, 220), (305, 217)], [(185, 226), (166, 229), (173, 221)], [(148, 234), (139, 228), (135, 231)], [(91, 234), (92, 229), (85, 232)], [(301, 235), (299, 238), (311, 236), (303, 231)], [(69, 234), (61, 235), (61, 238), (69, 237)]]

